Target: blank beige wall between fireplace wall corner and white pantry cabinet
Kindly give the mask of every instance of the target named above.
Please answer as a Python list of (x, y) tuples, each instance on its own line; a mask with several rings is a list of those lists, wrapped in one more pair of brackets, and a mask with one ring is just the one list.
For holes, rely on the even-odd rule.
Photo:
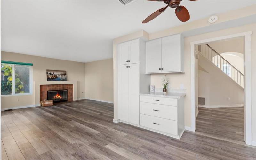
[(113, 103), (113, 59), (85, 63), (85, 97)]

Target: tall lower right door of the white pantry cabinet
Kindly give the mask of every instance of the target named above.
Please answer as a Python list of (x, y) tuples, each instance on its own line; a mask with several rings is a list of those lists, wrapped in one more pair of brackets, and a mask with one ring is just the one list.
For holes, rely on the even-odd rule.
[(129, 122), (139, 125), (140, 118), (140, 102), (139, 102), (139, 92), (140, 92), (140, 73), (139, 64), (129, 65)]

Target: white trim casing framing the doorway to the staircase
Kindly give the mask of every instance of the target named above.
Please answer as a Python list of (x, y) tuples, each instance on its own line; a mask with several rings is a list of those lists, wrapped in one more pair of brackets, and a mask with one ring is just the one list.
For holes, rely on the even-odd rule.
[[(252, 92), (251, 92), (251, 35), (252, 31), (236, 33), (227, 36), (214, 37), (199, 41), (191, 42), (191, 129), (195, 131), (195, 44), (202, 44), (223, 39), (235, 38), (244, 36), (245, 40), (245, 142), (247, 145), (252, 145)], [(194, 127), (194, 128), (193, 128)], [(186, 129), (186, 128), (185, 128)]]

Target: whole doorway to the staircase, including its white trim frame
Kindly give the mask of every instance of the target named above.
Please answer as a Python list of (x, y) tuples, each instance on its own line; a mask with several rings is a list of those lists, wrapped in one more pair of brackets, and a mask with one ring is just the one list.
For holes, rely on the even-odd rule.
[[(192, 131), (252, 145), (251, 34), (191, 42)], [(234, 41), (242, 50), (235, 50)], [(233, 49), (224, 51), (228, 43)], [(222, 47), (217, 49), (218, 45)]]

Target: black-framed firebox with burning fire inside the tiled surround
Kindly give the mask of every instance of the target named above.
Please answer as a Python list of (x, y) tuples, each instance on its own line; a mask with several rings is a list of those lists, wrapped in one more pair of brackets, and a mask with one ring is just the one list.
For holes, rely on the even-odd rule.
[(47, 100), (53, 100), (53, 103), (67, 102), (68, 90), (47, 91)]

